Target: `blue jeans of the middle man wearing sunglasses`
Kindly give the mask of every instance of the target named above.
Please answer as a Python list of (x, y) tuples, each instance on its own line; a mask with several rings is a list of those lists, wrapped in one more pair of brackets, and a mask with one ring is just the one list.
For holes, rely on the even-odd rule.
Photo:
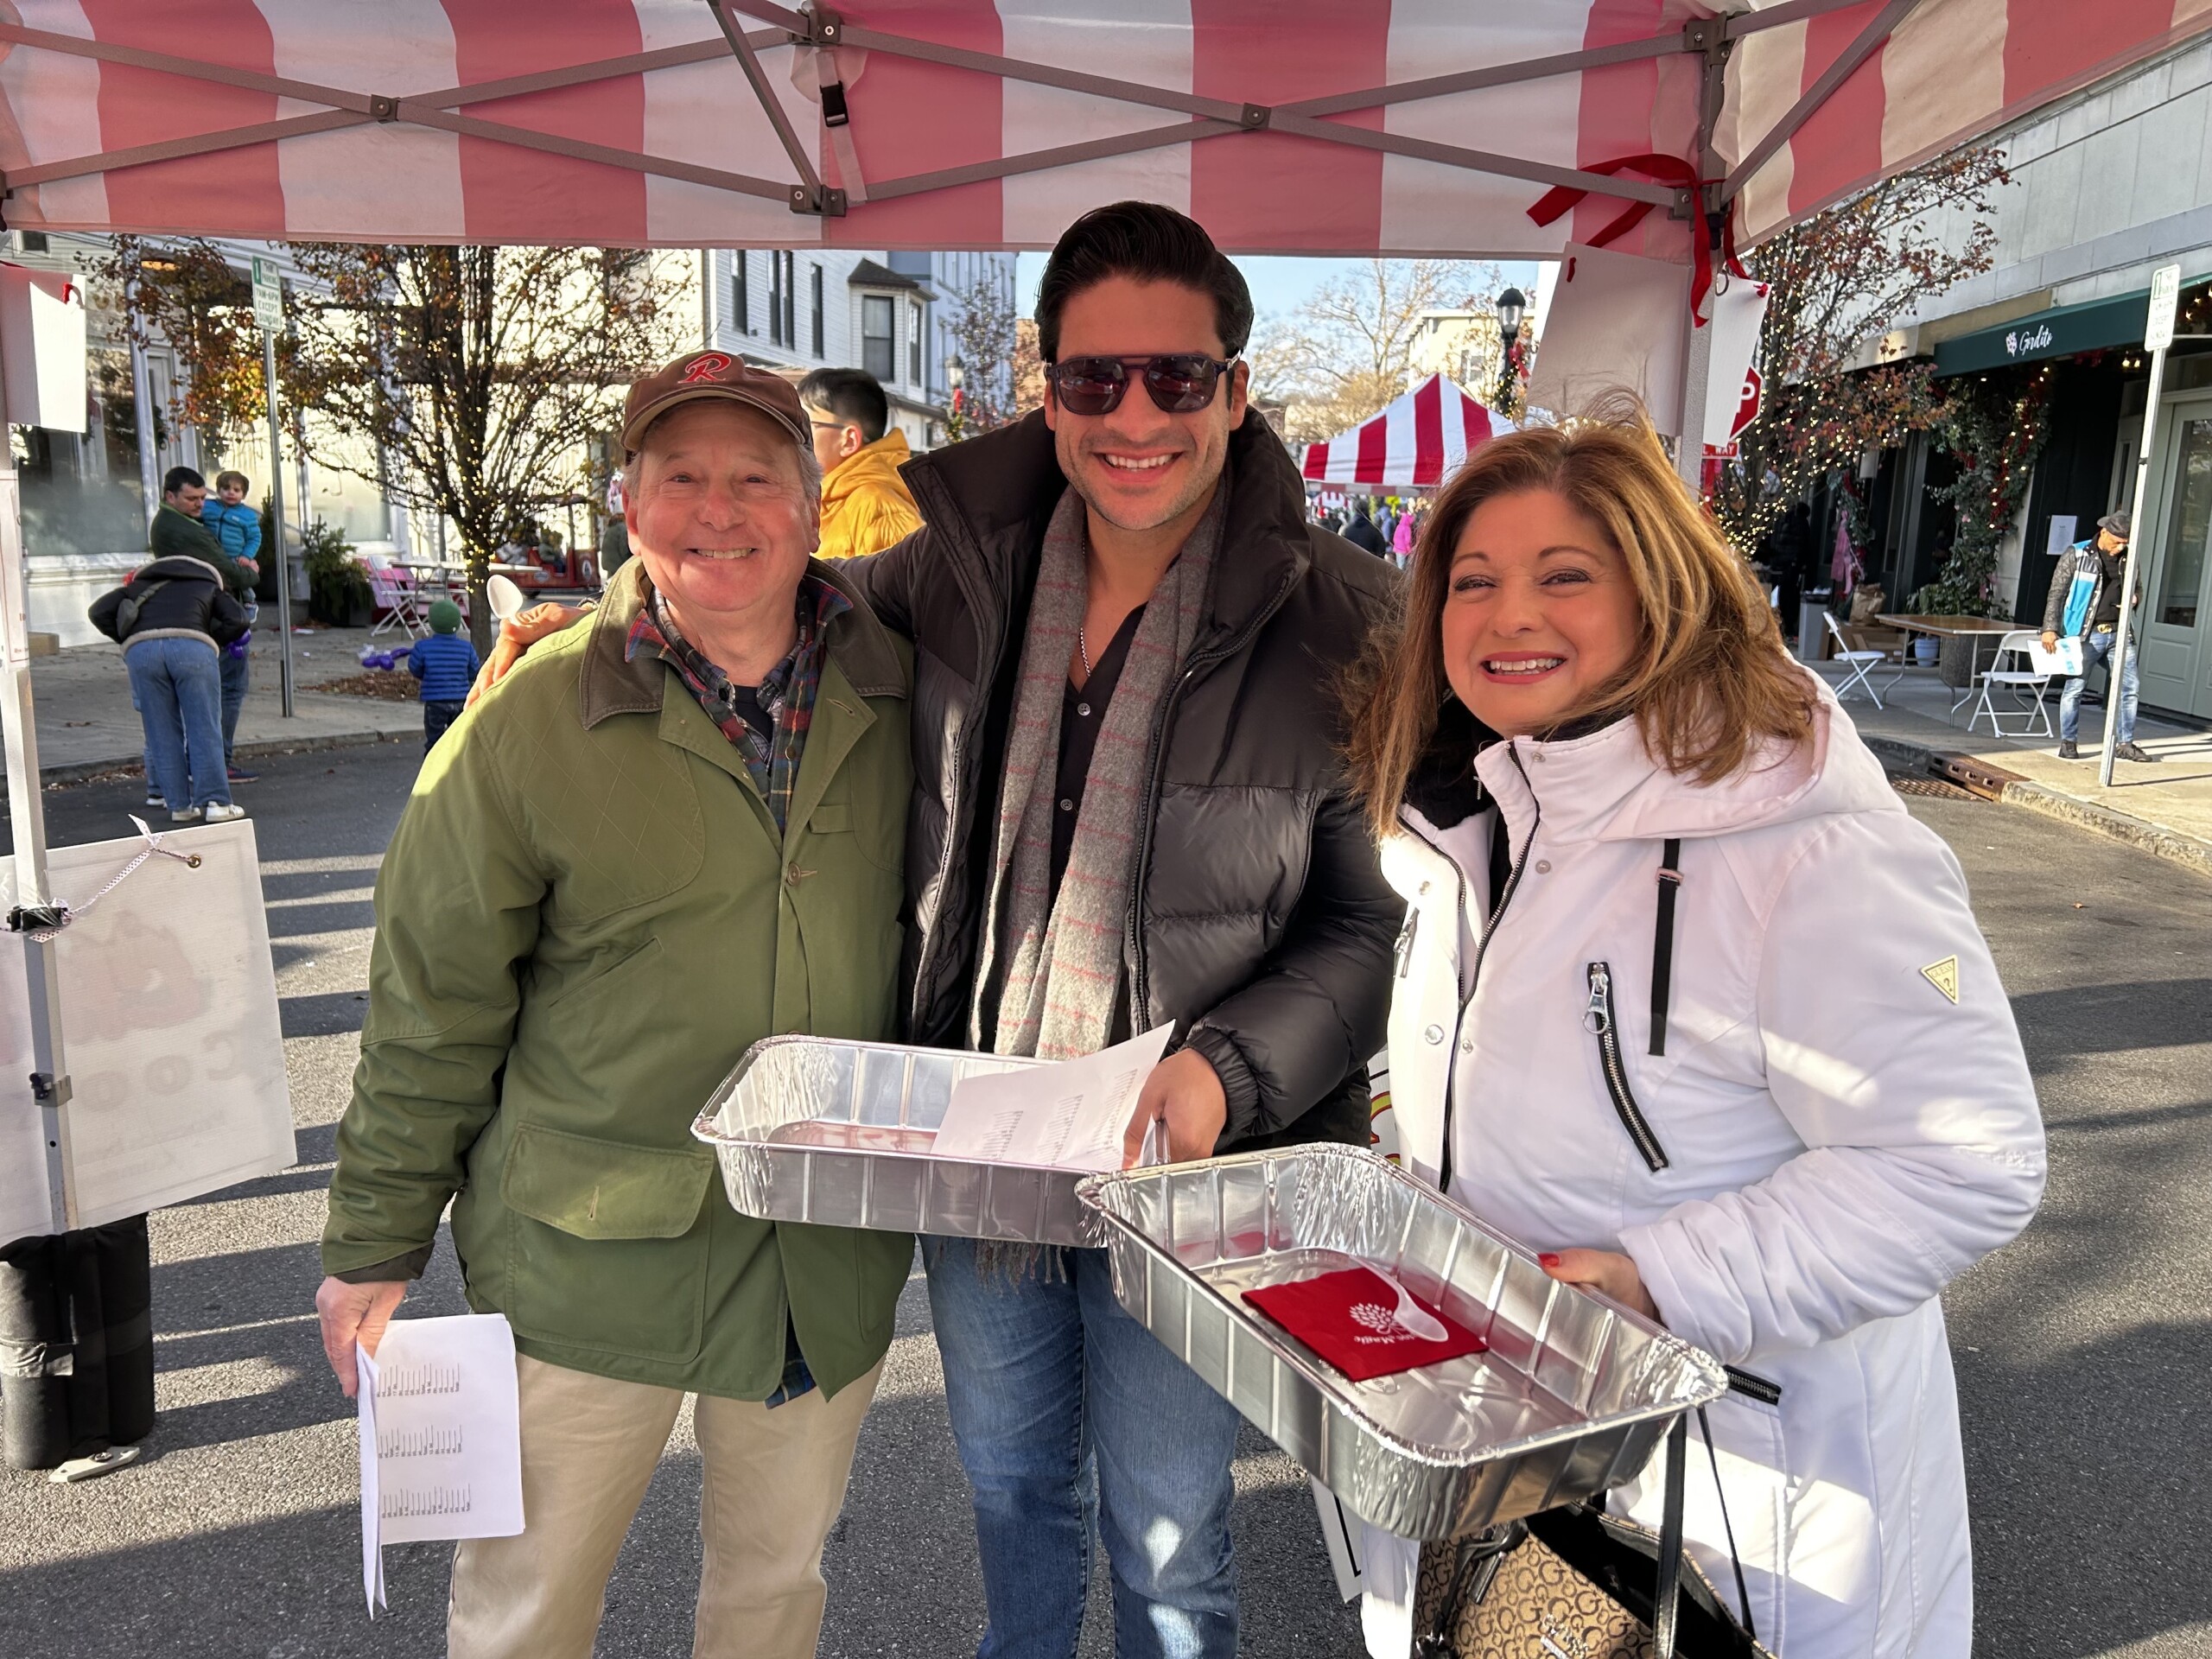
[(975, 1495), (978, 1659), (1068, 1659), (1097, 1520), (1117, 1659), (1232, 1659), (1237, 1407), (1113, 1298), (1104, 1250), (1011, 1281), (922, 1239), (953, 1440)]

